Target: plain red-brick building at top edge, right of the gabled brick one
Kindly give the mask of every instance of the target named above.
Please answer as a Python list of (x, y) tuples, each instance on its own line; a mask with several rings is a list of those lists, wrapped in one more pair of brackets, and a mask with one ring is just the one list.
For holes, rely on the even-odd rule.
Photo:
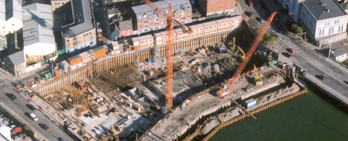
[(236, 0), (198, 0), (202, 11), (209, 16), (220, 13), (234, 13)]

